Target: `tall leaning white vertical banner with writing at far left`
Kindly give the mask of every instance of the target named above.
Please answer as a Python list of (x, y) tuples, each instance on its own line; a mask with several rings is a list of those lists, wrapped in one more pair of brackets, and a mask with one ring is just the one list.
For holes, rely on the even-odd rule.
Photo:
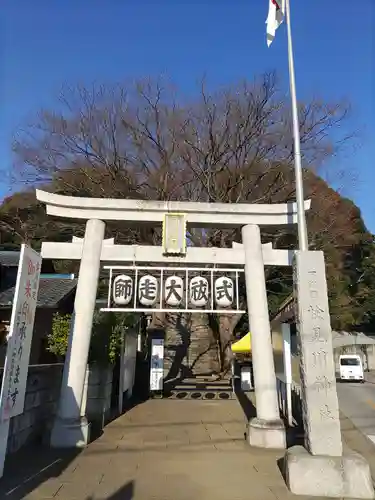
[(22, 245), (1, 386), (1, 422), (23, 413), (41, 264), (41, 256)]

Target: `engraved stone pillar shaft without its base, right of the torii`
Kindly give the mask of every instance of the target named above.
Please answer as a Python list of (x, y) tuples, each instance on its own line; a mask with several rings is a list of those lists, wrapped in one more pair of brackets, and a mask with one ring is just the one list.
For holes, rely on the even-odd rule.
[(297, 252), (294, 271), (305, 446), (313, 455), (340, 456), (339, 404), (323, 252)]

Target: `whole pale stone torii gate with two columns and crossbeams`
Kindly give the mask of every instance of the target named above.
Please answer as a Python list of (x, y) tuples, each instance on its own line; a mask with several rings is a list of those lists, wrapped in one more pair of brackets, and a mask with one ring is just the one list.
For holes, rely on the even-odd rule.
[[(297, 221), (295, 204), (248, 205), (192, 202), (75, 198), (37, 190), (37, 199), (46, 204), (47, 213), (58, 217), (84, 219), (83, 243), (43, 243), (44, 258), (81, 259), (75, 300), (69, 366), (65, 370), (58, 417), (52, 432), (52, 445), (77, 446), (88, 441), (88, 424), (80, 415), (80, 402), (89, 351), (92, 316), (95, 307), (100, 261), (154, 261), (185, 264), (245, 265), (248, 313), (252, 331), (257, 419), (250, 423), (252, 445), (285, 448), (285, 428), (280, 420), (276, 392), (264, 264), (291, 265), (287, 250), (262, 248), (259, 226), (286, 225)], [(306, 202), (309, 208), (310, 202)], [(186, 249), (184, 256), (165, 256), (161, 247), (124, 246), (104, 242), (104, 220), (161, 224), (165, 214), (184, 214), (190, 227), (242, 227), (243, 245), (233, 249)]]

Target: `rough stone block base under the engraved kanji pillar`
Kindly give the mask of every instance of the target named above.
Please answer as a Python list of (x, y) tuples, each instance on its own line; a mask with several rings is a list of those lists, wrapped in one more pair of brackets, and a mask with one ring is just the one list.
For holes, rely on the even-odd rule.
[(352, 451), (330, 457), (311, 455), (302, 446), (293, 446), (285, 455), (284, 475), (295, 495), (374, 498), (370, 467)]

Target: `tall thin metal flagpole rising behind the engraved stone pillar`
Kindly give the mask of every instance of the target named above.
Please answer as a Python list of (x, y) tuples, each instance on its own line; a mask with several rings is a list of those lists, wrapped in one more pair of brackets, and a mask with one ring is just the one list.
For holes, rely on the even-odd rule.
[(290, 24), (289, 0), (285, 0), (285, 11), (286, 11), (287, 33), (288, 33), (288, 62), (289, 62), (290, 96), (292, 99), (292, 116), (293, 116), (294, 171), (295, 171), (295, 178), (296, 178), (298, 242), (299, 242), (299, 249), (300, 250), (308, 250), (307, 227), (306, 227), (304, 196), (303, 196), (301, 145), (300, 145), (299, 123), (298, 123), (296, 82), (295, 82), (295, 77), (294, 77), (292, 28), (291, 28), (291, 24)]

